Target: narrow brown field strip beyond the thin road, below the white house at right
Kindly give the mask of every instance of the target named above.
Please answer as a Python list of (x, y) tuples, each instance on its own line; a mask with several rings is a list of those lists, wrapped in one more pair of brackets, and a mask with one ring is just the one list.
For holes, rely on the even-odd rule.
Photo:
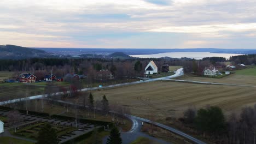
[(231, 83), (231, 84), (237, 84), (237, 85), (256, 85), (256, 76), (253, 76), (253, 75), (231, 74), (221, 79), (184, 75), (182, 77), (178, 77), (177, 79), (191, 80), (191, 81), (204, 81), (204, 82)]

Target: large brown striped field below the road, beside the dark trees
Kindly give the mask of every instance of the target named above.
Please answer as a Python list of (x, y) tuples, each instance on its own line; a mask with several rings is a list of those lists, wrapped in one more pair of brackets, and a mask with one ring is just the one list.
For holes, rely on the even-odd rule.
[(180, 82), (149, 82), (139, 85), (96, 91), (96, 99), (106, 94), (110, 104), (131, 108), (133, 115), (164, 119), (179, 117), (189, 106), (220, 106), (226, 114), (256, 103), (256, 88), (198, 85)]

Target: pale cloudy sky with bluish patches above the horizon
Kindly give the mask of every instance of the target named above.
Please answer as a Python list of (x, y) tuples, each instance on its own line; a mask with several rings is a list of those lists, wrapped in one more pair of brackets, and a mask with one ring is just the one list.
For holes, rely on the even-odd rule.
[(256, 1), (1, 0), (5, 44), (256, 49)]

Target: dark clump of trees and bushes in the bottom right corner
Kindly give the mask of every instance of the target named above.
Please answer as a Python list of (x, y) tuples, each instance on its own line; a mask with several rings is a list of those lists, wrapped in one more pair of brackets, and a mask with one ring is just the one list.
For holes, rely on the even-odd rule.
[(228, 117), (218, 106), (206, 106), (199, 110), (189, 107), (179, 120), (214, 143), (256, 143), (256, 104)]

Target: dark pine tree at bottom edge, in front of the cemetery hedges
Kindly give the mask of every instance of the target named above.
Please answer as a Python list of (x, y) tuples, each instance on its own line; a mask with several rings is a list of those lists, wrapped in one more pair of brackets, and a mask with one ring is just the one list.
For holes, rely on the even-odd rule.
[(57, 144), (59, 140), (57, 139), (57, 134), (55, 129), (51, 127), (50, 124), (45, 124), (43, 128), (40, 129), (37, 138), (37, 144)]

